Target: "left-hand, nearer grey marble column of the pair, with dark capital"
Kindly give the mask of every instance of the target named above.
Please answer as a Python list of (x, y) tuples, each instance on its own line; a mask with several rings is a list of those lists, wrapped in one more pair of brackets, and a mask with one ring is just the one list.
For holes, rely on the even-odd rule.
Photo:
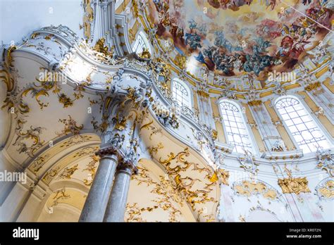
[(79, 222), (102, 222), (108, 202), (113, 176), (118, 165), (118, 156), (112, 149), (101, 149), (99, 168), (90, 187)]

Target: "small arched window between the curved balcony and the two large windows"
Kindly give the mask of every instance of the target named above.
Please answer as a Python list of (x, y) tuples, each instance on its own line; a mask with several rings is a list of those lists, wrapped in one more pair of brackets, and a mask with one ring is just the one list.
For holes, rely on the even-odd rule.
[(192, 108), (192, 99), (189, 87), (178, 79), (173, 80), (172, 84), (173, 97), (178, 101), (179, 106), (187, 106), (187, 108)]

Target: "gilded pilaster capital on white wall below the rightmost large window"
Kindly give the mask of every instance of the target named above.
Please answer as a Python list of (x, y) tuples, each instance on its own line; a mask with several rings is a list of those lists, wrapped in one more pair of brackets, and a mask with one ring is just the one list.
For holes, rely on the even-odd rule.
[(287, 173), (287, 178), (284, 179), (278, 179), (278, 185), (280, 188), (282, 188), (282, 191), (284, 194), (287, 193), (307, 193), (311, 192), (309, 190), (309, 187), (307, 184), (309, 184), (309, 181), (307, 180), (306, 177), (292, 177), (292, 170), (287, 169), (285, 165), (285, 172)]

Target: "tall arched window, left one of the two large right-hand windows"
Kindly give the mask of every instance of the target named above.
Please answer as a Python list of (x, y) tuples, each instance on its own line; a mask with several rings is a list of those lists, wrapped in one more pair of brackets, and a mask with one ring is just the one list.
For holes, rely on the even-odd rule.
[(220, 107), (228, 142), (235, 145), (233, 151), (243, 153), (245, 149), (253, 152), (250, 134), (239, 106), (229, 101), (221, 101)]

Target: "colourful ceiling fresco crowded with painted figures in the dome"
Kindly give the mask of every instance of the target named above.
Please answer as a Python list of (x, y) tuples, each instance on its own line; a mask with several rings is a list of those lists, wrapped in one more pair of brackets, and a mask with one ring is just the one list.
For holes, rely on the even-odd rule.
[[(161, 40), (223, 76), (292, 70), (330, 31), (333, 1), (149, 1)], [(316, 20), (316, 22), (314, 21)]]

